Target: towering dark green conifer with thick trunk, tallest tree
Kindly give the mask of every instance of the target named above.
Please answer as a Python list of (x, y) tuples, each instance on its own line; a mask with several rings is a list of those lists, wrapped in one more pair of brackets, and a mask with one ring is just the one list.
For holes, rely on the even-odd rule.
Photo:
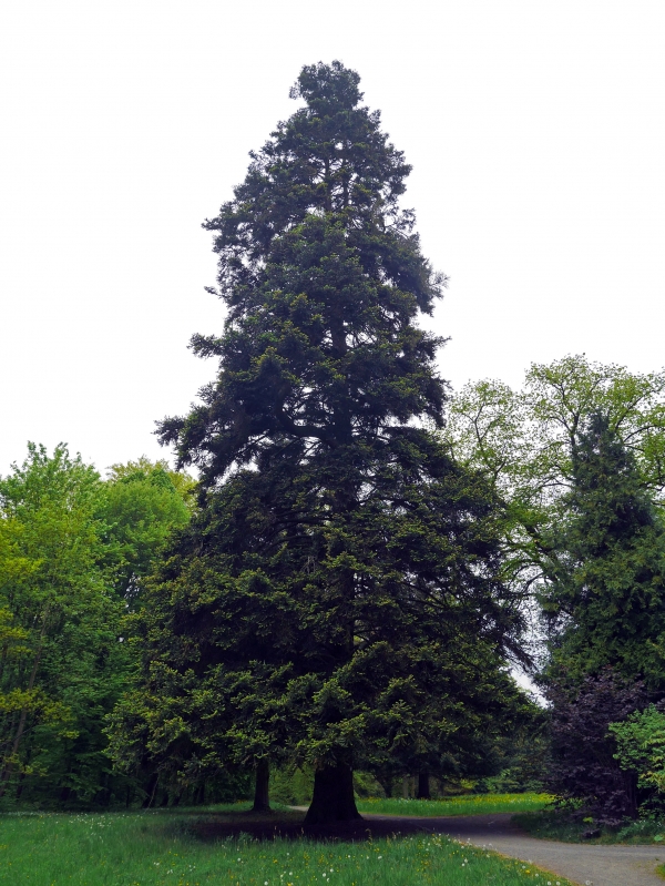
[(227, 317), (193, 347), (219, 371), (162, 424), (202, 507), (149, 583), (142, 683), (112, 730), (117, 757), (173, 777), (310, 764), (309, 822), (357, 815), (354, 766), (463, 765), (524, 705), (495, 498), (422, 427), (446, 390), (415, 320), (444, 279), (358, 83), (304, 68), (304, 105), (206, 223)]

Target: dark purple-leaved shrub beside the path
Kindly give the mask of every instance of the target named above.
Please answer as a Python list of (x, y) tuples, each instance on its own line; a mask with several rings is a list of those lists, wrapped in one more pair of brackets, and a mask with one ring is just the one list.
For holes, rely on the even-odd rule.
[(642, 800), (637, 774), (614, 758), (616, 742), (610, 723), (644, 709), (642, 681), (626, 681), (611, 668), (576, 686), (565, 679), (548, 689), (552, 705), (552, 760), (545, 787), (563, 805), (582, 803), (600, 824), (635, 818)]

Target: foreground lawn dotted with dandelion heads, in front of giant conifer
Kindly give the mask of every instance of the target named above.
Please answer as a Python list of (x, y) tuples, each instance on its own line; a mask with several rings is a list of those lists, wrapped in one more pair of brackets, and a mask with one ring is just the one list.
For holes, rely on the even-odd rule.
[[(211, 817), (211, 816), (206, 816)], [(12, 886), (570, 886), (447, 837), (203, 842), (182, 813), (0, 816), (0, 884)], [(248, 817), (245, 815), (245, 821)]]

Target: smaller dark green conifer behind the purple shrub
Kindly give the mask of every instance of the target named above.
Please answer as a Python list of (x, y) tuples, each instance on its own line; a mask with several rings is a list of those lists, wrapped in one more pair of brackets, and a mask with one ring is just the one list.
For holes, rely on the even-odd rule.
[(600, 674), (663, 686), (665, 531), (634, 456), (592, 415), (573, 452), (571, 520), (556, 546), (564, 551), (548, 595), (553, 628), (552, 672)]

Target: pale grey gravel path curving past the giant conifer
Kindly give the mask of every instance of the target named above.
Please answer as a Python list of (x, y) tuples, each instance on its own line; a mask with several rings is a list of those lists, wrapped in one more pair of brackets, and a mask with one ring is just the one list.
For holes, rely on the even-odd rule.
[(665, 886), (656, 873), (665, 862), (665, 847), (601, 846), (557, 843), (530, 837), (510, 824), (510, 813), (454, 817), (405, 818), (397, 815), (364, 815), (368, 819), (409, 824), (428, 833), (448, 834), (456, 839), (488, 846), (502, 855), (532, 862), (573, 883), (593, 886)]

